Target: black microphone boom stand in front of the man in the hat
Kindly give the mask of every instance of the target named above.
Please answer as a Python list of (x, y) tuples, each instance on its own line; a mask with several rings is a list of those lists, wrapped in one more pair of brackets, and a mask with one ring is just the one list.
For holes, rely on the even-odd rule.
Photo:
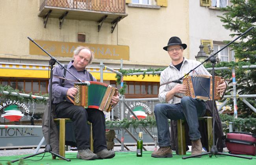
[[(241, 35), (239, 35), (235, 40), (231, 41), (230, 43), (228, 43), (226, 46), (224, 46), (221, 50), (223, 50), (224, 48), (226, 48), (228, 45), (232, 44), (234, 41), (236, 41), (237, 39), (239, 39), (242, 35), (245, 35), (245, 33), (249, 32), (250, 30), (252, 30), (254, 28), (254, 26), (250, 27), (248, 30), (246, 30), (244, 33), (242, 33)], [(215, 70), (214, 70), (214, 66), (216, 63), (216, 59), (215, 59), (215, 55), (217, 53), (219, 53), (221, 50), (219, 50), (218, 52), (216, 52), (215, 54), (211, 55), (210, 57), (208, 57), (204, 62), (208, 61), (210, 59), (211, 63), (212, 63), (212, 119), (213, 119), (213, 146), (211, 147), (210, 152), (206, 152), (206, 153), (202, 153), (202, 154), (198, 154), (198, 155), (193, 155), (193, 156), (184, 156), (182, 157), (182, 159), (187, 159), (187, 158), (194, 158), (194, 157), (200, 157), (203, 155), (208, 155), (211, 158), (212, 155), (226, 155), (226, 156), (234, 156), (237, 158), (245, 158), (245, 159), (252, 159), (252, 157), (247, 157), (247, 156), (240, 156), (240, 155), (235, 155), (235, 154), (227, 154), (227, 153), (223, 153), (223, 152), (219, 152), (217, 149), (217, 146), (215, 145), (215, 131), (214, 131), (214, 125), (215, 125), (215, 99), (214, 99), (214, 95), (215, 95), (215, 91), (214, 91), (214, 78), (215, 78)], [(202, 62), (200, 65), (202, 65), (204, 62)], [(197, 67), (199, 67), (200, 65), (198, 65)], [(195, 69), (197, 68), (195, 67)], [(195, 70), (193, 69), (193, 70)], [(192, 70), (189, 71), (189, 73), (192, 72)], [(189, 73), (187, 73), (186, 75), (188, 75)], [(186, 76), (185, 75), (185, 76)], [(182, 77), (183, 78), (183, 77)]]

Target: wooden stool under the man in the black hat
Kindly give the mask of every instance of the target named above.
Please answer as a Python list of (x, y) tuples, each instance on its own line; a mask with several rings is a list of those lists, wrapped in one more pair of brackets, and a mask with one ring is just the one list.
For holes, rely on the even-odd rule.
[[(207, 135), (208, 135), (208, 150), (211, 150), (213, 145), (212, 133), (212, 117), (198, 117), (198, 120), (205, 120), (207, 124)], [(178, 155), (186, 155), (186, 139), (185, 139), (185, 126), (184, 120), (177, 120), (178, 130)]]

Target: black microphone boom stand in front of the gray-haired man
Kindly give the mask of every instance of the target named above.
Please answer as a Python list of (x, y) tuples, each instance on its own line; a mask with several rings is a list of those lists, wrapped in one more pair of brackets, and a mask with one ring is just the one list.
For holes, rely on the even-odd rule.
[[(63, 157), (63, 156), (60, 156), (59, 154), (56, 154), (55, 152), (52, 152), (52, 147), (51, 147), (51, 145), (50, 145), (50, 128), (51, 128), (51, 115), (52, 115), (52, 69), (53, 69), (53, 65), (55, 65), (55, 63), (57, 62), (59, 65), (61, 65), (61, 69), (66, 69), (67, 70), (67, 68), (65, 68), (57, 59), (55, 59), (53, 56), (51, 56), (48, 52), (46, 52), (39, 44), (37, 44), (33, 39), (31, 39), (30, 37), (28, 37), (28, 39), (30, 40), (30, 41), (32, 41), (34, 44), (36, 44), (39, 48), (41, 48), (41, 50), (43, 50), (48, 56), (50, 56), (51, 57), (51, 59), (50, 59), (50, 61), (49, 61), (49, 64), (50, 64), (50, 85), (49, 85), (49, 87), (50, 87), (50, 89), (49, 89), (49, 92), (50, 92), (50, 94), (49, 94), (49, 99), (50, 99), (50, 102), (49, 102), (49, 112), (50, 112), (50, 115), (48, 115), (49, 116), (49, 118), (48, 118), (48, 122), (49, 122), (49, 124), (48, 124), (48, 141), (47, 141), (47, 145), (45, 146), (45, 150), (44, 151), (42, 151), (42, 152), (38, 152), (38, 153), (36, 153), (36, 154), (32, 154), (32, 155), (30, 155), (30, 156), (26, 156), (26, 157), (24, 157), (24, 158), (22, 158), (22, 159), (26, 159), (26, 158), (30, 158), (30, 157), (33, 157), (33, 156), (36, 156), (36, 155), (39, 155), (39, 154), (42, 154), (42, 153), (46, 153), (46, 152), (50, 152), (52, 155), (54, 155), (54, 156), (57, 156), (57, 157), (59, 157), (59, 158), (62, 158), (62, 159), (65, 159), (66, 161), (71, 161), (70, 159), (67, 159), (67, 158), (65, 158), (65, 157)], [(69, 70), (67, 70), (67, 72), (69, 72), (74, 78), (76, 78), (76, 76), (74, 76)], [(80, 79), (78, 79), (78, 78), (76, 78), (76, 80), (78, 81), (78, 82), (80, 82), (80, 83), (82, 83), (83, 85), (90, 85), (90, 83), (89, 82), (82, 82)], [(20, 158), (19, 158), (20, 159)], [(11, 163), (14, 163), (15, 161), (19, 161), (19, 159), (15, 159), (15, 160), (13, 160), (13, 161), (11, 161)]]

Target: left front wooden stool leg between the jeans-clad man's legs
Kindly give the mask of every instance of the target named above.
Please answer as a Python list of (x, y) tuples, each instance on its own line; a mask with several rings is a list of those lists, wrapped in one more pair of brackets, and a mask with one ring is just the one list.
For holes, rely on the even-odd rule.
[(185, 126), (182, 120), (177, 120), (178, 130), (178, 155), (186, 155)]

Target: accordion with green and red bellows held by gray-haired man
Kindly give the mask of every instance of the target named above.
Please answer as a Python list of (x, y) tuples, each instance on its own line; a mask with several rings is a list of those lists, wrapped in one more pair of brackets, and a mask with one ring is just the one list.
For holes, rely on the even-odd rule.
[(111, 98), (117, 91), (115, 87), (101, 82), (90, 82), (89, 86), (75, 83), (74, 87), (78, 89), (74, 97), (74, 105), (111, 111)]

